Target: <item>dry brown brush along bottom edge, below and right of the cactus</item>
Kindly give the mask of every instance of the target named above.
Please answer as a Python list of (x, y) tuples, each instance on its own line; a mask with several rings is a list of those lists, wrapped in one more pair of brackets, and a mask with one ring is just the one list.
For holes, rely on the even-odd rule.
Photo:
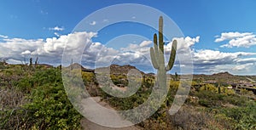
[[(166, 115), (166, 111), (163, 113)], [(220, 130), (231, 129), (224, 119), (216, 119), (212, 114), (192, 106), (183, 106), (176, 114), (164, 118), (149, 118), (141, 123), (146, 130)]]

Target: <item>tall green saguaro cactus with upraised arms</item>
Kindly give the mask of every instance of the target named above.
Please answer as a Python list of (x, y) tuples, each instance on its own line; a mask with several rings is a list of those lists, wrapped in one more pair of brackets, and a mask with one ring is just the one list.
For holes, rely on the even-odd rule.
[(164, 37), (163, 37), (163, 17), (159, 19), (159, 41), (157, 42), (157, 35), (154, 33), (154, 48), (150, 48), (150, 57), (154, 69), (157, 69), (157, 86), (160, 88), (166, 88), (166, 72), (172, 69), (174, 64), (177, 41), (172, 42), (172, 51), (168, 65), (165, 65), (165, 53), (164, 53)]

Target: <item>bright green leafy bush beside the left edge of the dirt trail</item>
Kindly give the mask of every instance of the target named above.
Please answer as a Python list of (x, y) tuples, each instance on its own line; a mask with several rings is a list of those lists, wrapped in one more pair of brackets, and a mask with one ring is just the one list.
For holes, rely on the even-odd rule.
[(73, 109), (61, 83), (33, 89), (32, 103), (24, 105), (32, 118), (31, 127), (38, 129), (78, 129), (81, 116)]

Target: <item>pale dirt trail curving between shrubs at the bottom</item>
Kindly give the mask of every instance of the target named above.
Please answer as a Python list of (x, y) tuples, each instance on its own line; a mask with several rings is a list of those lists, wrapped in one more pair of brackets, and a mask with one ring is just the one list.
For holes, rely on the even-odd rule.
[[(98, 122), (101, 122), (101, 124), (106, 124), (106, 125), (108, 125), (108, 122), (113, 122), (113, 126), (118, 126), (120, 123), (131, 124), (131, 122), (126, 121), (121, 116), (119, 116), (118, 112), (113, 110), (113, 108), (110, 105), (108, 105), (106, 102), (101, 101), (100, 97), (83, 99), (82, 104), (86, 106), (84, 107), (85, 111), (90, 111), (86, 115), (86, 118), (84, 117), (81, 120), (81, 125), (84, 128), (84, 130), (139, 130), (140, 129), (135, 126), (122, 127), (122, 128), (103, 127), (94, 122), (90, 122), (91, 120), (96, 120)], [(105, 110), (106, 108), (108, 110)], [(115, 122), (117, 124), (115, 124)]]

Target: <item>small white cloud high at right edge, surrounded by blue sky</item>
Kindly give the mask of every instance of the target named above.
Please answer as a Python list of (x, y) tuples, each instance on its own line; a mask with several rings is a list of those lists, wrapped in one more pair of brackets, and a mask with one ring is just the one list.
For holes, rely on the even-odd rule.
[(224, 32), (221, 36), (215, 39), (215, 42), (229, 41), (228, 43), (220, 46), (221, 48), (227, 47), (243, 47), (249, 48), (256, 45), (256, 35), (251, 32)]

